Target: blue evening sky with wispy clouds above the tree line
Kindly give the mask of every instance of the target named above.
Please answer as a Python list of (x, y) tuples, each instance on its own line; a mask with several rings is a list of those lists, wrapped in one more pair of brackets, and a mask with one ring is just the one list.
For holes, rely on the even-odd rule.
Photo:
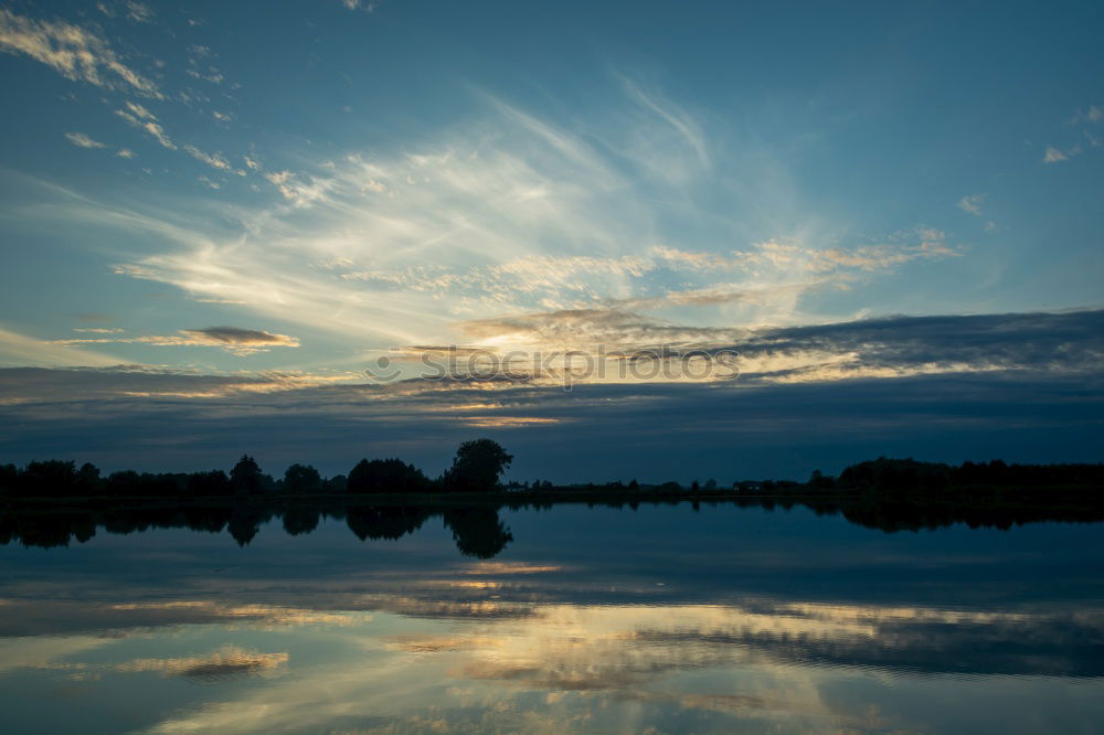
[(0, 461), (1100, 461), (1102, 15), (0, 2)]

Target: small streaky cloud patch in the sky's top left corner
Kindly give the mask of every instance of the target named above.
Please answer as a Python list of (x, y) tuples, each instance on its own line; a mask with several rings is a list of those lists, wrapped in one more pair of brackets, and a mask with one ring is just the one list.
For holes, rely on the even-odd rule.
[(0, 51), (25, 54), (67, 79), (161, 97), (157, 85), (127, 66), (96, 31), (62, 20), (34, 20), (0, 9)]

